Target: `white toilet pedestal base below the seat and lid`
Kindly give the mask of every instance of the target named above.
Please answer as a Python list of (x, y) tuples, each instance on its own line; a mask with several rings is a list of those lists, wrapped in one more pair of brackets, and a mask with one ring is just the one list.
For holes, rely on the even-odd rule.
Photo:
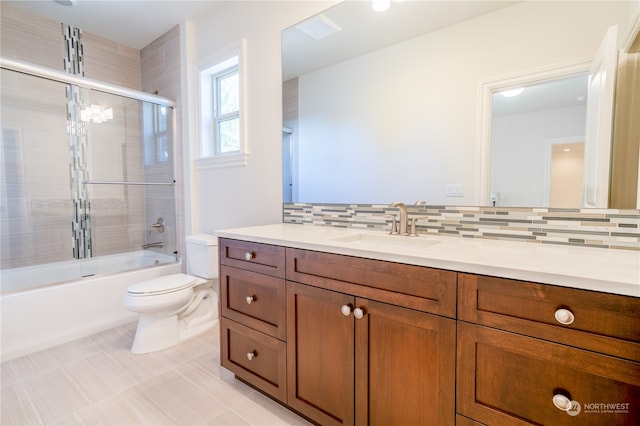
[(175, 346), (198, 336), (218, 324), (217, 297), (212, 290), (204, 290), (208, 297), (190, 314), (163, 315), (162, 313), (141, 313), (138, 328), (133, 339), (131, 352), (145, 354)]

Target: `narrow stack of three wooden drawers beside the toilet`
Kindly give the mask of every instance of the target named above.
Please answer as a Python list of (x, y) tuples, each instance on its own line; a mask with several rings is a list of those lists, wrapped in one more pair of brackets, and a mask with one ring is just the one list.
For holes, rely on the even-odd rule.
[(284, 402), (284, 248), (221, 238), (219, 250), (221, 364)]

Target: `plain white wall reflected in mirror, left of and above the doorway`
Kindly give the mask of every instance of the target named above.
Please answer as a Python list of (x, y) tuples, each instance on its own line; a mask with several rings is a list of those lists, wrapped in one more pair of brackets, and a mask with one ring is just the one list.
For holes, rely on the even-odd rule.
[(628, 12), (526, 2), (301, 76), (299, 200), (477, 205), (478, 82), (593, 56)]

